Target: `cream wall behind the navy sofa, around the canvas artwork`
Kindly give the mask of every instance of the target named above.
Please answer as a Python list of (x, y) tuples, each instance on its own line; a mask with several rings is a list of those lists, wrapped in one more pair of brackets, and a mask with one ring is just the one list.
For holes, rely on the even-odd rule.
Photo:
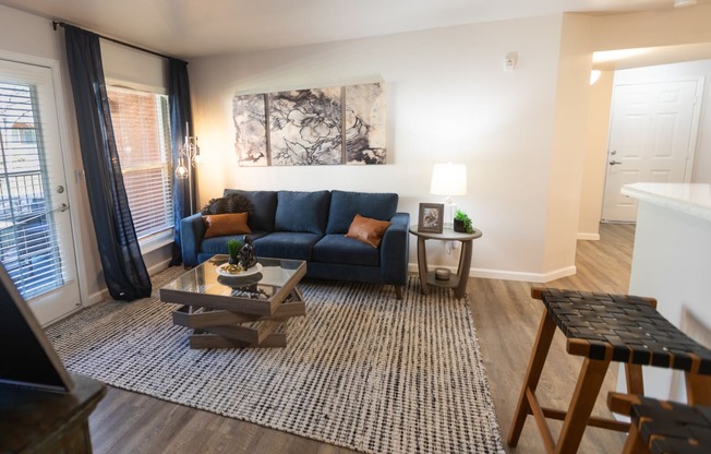
[[(456, 202), (483, 231), (474, 244), (472, 273), (541, 280), (547, 273), (547, 177), (561, 24), (561, 16), (546, 16), (192, 60), (204, 157), (197, 177), (201, 202), (226, 187), (393, 191), (414, 224), (419, 202), (441, 199), (429, 194), (432, 166), (463, 163), (469, 190)], [(518, 65), (504, 72), (504, 56), (513, 50)], [(369, 80), (383, 80), (387, 87), (389, 164), (238, 166), (231, 120), (236, 93)], [(433, 243), (429, 258), (455, 264), (442, 244)]]

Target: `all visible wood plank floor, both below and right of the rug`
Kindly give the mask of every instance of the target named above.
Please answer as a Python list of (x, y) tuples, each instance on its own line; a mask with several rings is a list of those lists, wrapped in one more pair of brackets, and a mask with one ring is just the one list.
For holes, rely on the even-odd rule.
[[(549, 283), (552, 287), (626, 292), (635, 229), (630, 225), (602, 225), (600, 241), (579, 241), (577, 274)], [(474, 253), (475, 253), (474, 246)], [(506, 439), (516, 407), (542, 304), (529, 296), (531, 284), (471, 278), (468, 291), (474, 315), (494, 405)], [(580, 367), (565, 354), (556, 333), (549, 363), (539, 385), (544, 405), (567, 407)], [(605, 390), (614, 387), (608, 372)], [(608, 414), (604, 396), (595, 414)], [(162, 402), (142, 394), (109, 387), (89, 418), (94, 452), (101, 453), (353, 453), (253, 423)], [(555, 428), (556, 426), (553, 425)], [(559, 426), (557, 426), (559, 427)], [(557, 429), (555, 429), (557, 430)], [(557, 433), (554, 433), (557, 434)], [(588, 429), (581, 453), (620, 452), (624, 435)], [(542, 453), (532, 418), (510, 453)]]

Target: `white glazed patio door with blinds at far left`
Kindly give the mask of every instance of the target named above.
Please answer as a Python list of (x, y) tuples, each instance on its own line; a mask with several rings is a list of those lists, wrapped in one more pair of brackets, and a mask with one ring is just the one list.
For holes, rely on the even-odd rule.
[(0, 262), (41, 324), (80, 307), (52, 71), (0, 59)]

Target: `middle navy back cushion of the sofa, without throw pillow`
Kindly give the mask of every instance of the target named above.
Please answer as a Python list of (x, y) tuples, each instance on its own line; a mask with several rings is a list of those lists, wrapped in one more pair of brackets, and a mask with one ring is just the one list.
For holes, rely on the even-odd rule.
[(275, 230), (323, 235), (328, 222), (329, 201), (328, 191), (279, 191)]

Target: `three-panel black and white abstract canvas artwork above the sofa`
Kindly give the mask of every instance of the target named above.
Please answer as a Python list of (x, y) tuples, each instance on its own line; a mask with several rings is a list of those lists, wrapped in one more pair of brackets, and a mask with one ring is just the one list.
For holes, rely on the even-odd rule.
[(236, 95), (232, 116), (240, 166), (385, 164), (381, 83)]

